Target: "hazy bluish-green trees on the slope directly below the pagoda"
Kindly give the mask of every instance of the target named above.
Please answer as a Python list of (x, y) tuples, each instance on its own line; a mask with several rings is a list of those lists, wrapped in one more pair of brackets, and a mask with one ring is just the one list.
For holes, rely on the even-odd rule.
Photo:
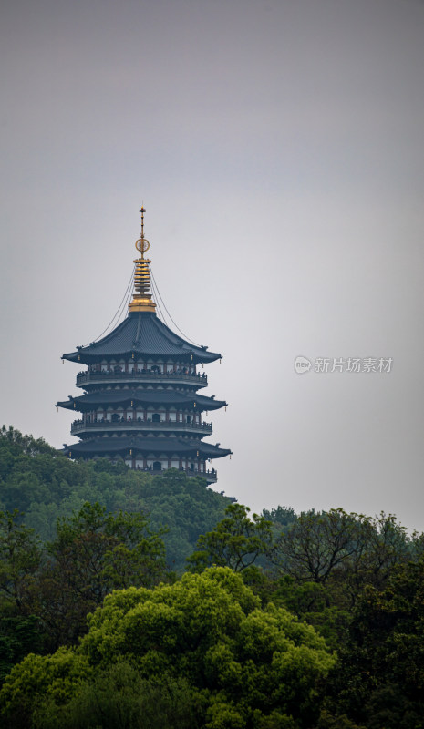
[(25, 512), (27, 527), (44, 541), (56, 538), (56, 523), (88, 501), (110, 512), (137, 512), (163, 535), (172, 570), (183, 570), (201, 534), (222, 519), (229, 499), (205, 488), (200, 477), (176, 468), (158, 476), (131, 471), (120, 460), (70, 461), (42, 440), (0, 430), (0, 508)]

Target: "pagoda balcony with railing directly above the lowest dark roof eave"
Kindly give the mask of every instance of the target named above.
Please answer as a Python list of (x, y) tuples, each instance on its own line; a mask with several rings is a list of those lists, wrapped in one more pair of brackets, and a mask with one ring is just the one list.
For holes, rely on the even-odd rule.
[(177, 430), (179, 433), (200, 434), (209, 436), (212, 433), (212, 423), (177, 423), (175, 420), (161, 420), (156, 423), (152, 420), (98, 420), (95, 423), (84, 423), (83, 420), (74, 420), (71, 426), (71, 435), (76, 436), (85, 431), (93, 434), (93, 431), (100, 433), (112, 433), (115, 430), (132, 430), (137, 432), (150, 432), (160, 430), (164, 433), (172, 433)]

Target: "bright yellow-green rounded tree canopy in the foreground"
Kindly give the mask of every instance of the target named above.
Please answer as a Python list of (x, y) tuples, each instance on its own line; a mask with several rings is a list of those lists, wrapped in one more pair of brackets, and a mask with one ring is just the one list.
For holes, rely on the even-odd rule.
[[(51, 659), (41, 659), (30, 686), (28, 659), (16, 666), (0, 693), (8, 722), (23, 702), (46, 729), (55, 725), (55, 716), (65, 717), (57, 721), (64, 727), (109, 726), (103, 720), (94, 723), (99, 690), (102, 709), (115, 711), (122, 705), (129, 719), (121, 725), (129, 727), (171, 726), (171, 706), (176, 705), (175, 726), (298, 729), (311, 725), (316, 683), (335, 662), (312, 627), (282, 608), (262, 610), (242, 577), (228, 568), (185, 574), (173, 585), (152, 590), (129, 588), (108, 595), (89, 617), (88, 634), (72, 653), (81, 664), (74, 668), (71, 684), (67, 663), (62, 692), (49, 665), (60, 655), (70, 653), (61, 649)], [(111, 690), (114, 685), (117, 692)], [(137, 723), (146, 695), (150, 711), (151, 701), (157, 700), (162, 724)], [(79, 724), (71, 724), (77, 704)], [(183, 724), (184, 716), (191, 717), (190, 724)]]

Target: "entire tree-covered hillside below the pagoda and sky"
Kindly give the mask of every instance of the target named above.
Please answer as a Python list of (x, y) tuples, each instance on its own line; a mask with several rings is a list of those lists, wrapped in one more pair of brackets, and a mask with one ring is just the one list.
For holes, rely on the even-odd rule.
[(0, 723), (424, 729), (424, 535), (0, 432)]

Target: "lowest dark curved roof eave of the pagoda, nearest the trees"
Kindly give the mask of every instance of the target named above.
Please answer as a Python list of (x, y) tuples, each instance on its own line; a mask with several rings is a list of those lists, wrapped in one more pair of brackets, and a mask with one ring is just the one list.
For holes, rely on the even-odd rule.
[(165, 437), (108, 437), (95, 438), (82, 443), (75, 443), (65, 446), (62, 450), (66, 456), (71, 458), (92, 457), (102, 454), (128, 455), (129, 450), (133, 455), (148, 455), (149, 453), (177, 453), (181, 456), (200, 456), (204, 458), (222, 458), (230, 456), (233, 451), (229, 448), (212, 446), (202, 441), (182, 440), (181, 438)]

